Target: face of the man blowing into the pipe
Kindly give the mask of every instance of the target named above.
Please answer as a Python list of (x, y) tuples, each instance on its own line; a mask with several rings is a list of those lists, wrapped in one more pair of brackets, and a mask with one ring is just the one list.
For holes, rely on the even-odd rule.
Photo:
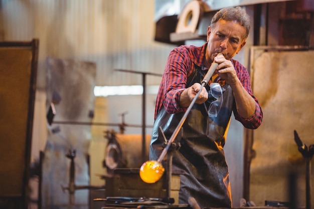
[(230, 60), (245, 45), (245, 28), (235, 21), (219, 20), (214, 28), (207, 29), (206, 59), (212, 62), (219, 52)]

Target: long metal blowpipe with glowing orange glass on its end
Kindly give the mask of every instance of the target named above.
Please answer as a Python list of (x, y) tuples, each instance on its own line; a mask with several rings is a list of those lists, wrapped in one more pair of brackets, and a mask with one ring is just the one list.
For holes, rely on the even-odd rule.
[[(222, 53), (218, 53), (218, 55), (223, 55)], [(217, 55), (217, 56), (218, 56)], [(173, 132), (173, 134), (171, 135), (170, 139), (167, 142), (166, 147), (163, 149), (161, 155), (159, 156), (158, 160), (148, 160), (146, 162), (144, 162), (142, 164), (142, 166), (140, 167), (139, 170), (139, 175), (140, 178), (146, 182), (146, 183), (154, 183), (156, 181), (158, 181), (164, 171), (165, 168), (162, 165), (162, 160), (164, 159), (164, 157), (166, 156), (171, 144), (175, 141), (183, 123), (185, 122), (185, 120), (188, 117), (188, 114), (190, 113), (193, 105), (195, 104), (198, 96), (201, 93), (201, 89), (206, 86), (208, 84), (208, 81), (210, 80), (210, 78), (212, 77), (212, 75), (214, 74), (216, 68), (218, 66), (218, 63), (213, 62), (210, 66), (210, 68), (208, 69), (208, 72), (206, 73), (206, 75), (204, 76), (204, 79), (201, 82), (201, 88), (200, 91), (195, 95), (194, 99), (192, 100), (191, 104), (189, 105), (187, 111), (185, 112), (185, 114), (183, 115), (182, 119), (180, 120), (178, 126), (176, 127), (175, 131)]]

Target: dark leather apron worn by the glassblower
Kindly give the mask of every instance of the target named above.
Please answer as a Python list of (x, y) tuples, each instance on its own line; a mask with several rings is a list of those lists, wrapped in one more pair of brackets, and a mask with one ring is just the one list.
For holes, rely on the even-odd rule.
[[(196, 82), (201, 83), (207, 73), (200, 67), (196, 69), (189, 76), (187, 87)], [(180, 204), (188, 204), (189, 197), (194, 197), (201, 208), (232, 206), (229, 172), (223, 146), (234, 97), (231, 87), (225, 81), (219, 80), (218, 83), (221, 83), (223, 90), (223, 104), (217, 117), (208, 115), (207, 109), (210, 103), (215, 101), (209, 93), (205, 102), (207, 109), (204, 104), (194, 104), (182, 126), (181, 147), (173, 152), (173, 169), (184, 172), (180, 175)], [(206, 89), (210, 90), (209, 85), (206, 85)], [(159, 127), (169, 139), (183, 115), (184, 112), (169, 114), (164, 107), (161, 108), (153, 125), (150, 160), (159, 158), (165, 143), (162, 134), (159, 135)]]

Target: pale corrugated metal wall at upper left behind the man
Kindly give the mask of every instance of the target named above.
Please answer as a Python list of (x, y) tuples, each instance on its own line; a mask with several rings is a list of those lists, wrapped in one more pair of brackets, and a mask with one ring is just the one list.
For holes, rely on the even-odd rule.
[[(0, 41), (40, 40), (38, 88), (45, 89), (46, 57), (95, 62), (96, 85), (141, 85), (162, 74), (175, 46), (154, 41), (153, 0), (2, 0)], [(161, 77), (147, 76), (147, 85)]]

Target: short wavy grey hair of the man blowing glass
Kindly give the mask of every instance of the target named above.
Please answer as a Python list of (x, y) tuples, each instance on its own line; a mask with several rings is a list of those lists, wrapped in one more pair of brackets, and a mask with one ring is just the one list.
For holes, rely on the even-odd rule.
[(244, 40), (248, 37), (250, 33), (250, 16), (246, 13), (244, 9), (241, 7), (228, 7), (228, 8), (223, 8), (220, 11), (218, 11), (211, 23), (211, 28), (215, 28), (216, 23), (220, 20), (225, 20), (225, 21), (236, 21), (239, 23), (241, 26), (245, 28), (245, 36)]

